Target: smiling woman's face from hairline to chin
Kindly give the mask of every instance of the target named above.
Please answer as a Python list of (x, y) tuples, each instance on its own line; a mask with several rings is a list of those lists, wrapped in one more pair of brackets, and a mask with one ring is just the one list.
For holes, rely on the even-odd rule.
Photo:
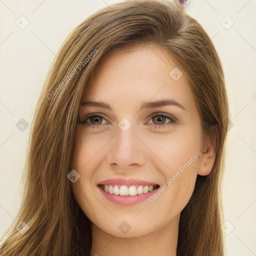
[(210, 171), (185, 73), (158, 47), (120, 50), (104, 59), (82, 102), (72, 188), (88, 218), (119, 237), (179, 218), (197, 173)]

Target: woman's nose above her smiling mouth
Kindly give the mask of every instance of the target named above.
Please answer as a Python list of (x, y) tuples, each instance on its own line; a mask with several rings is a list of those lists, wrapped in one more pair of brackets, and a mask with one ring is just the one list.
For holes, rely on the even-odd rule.
[(145, 153), (145, 148), (134, 134), (132, 126), (126, 131), (117, 127), (117, 133), (111, 139), (106, 161), (111, 167), (128, 169), (144, 165), (146, 162)]

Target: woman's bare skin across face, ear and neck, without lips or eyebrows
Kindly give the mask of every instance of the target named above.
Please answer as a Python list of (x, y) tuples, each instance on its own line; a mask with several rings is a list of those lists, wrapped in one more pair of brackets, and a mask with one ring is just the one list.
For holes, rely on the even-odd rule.
[[(203, 140), (185, 72), (177, 80), (169, 75), (175, 66), (156, 46), (117, 51), (105, 58), (84, 95), (83, 101), (111, 106), (83, 105), (79, 110), (85, 123), (78, 125), (72, 167), (80, 178), (72, 185), (93, 223), (91, 255), (176, 255), (180, 212), (197, 174), (210, 172), (215, 154), (210, 138)], [(183, 108), (140, 109), (142, 102), (170, 98)], [(131, 124), (126, 131), (118, 126), (123, 118)], [(165, 189), (151, 201), (121, 205), (106, 199), (97, 186), (114, 177), (151, 181)], [(130, 226), (126, 233), (118, 228), (123, 221)]]

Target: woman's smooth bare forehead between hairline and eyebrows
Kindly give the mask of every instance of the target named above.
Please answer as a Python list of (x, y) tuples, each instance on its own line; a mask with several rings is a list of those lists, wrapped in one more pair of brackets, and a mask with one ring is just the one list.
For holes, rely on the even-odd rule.
[[(103, 101), (113, 108), (141, 101), (172, 97), (184, 105), (193, 104), (184, 71), (159, 47), (140, 46), (107, 55), (94, 79), (88, 84), (83, 100)], [(182, 73), (181, 73), (182, 72)], [(180, 77), (173, 79), (173, 74)]]

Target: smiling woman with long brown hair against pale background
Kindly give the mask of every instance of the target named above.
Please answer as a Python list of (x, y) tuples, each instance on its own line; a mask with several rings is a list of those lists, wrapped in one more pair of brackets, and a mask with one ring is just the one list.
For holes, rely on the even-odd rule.
[(96, 11), (53, 61), (1, 255), (223, 255), (224, 75), (169, 1)]

